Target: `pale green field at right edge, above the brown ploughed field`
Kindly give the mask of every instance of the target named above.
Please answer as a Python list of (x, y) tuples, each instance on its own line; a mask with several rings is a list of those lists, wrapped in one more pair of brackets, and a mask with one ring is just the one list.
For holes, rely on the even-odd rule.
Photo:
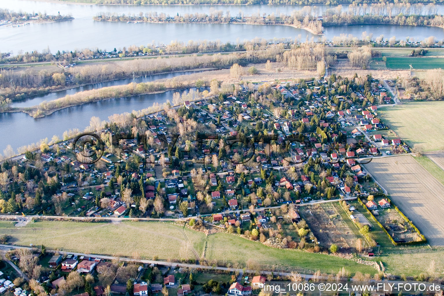
[(411, 102), (378, 109), (378, 117), (409, 146), (423, 151), (444, 149), (444, 102)]

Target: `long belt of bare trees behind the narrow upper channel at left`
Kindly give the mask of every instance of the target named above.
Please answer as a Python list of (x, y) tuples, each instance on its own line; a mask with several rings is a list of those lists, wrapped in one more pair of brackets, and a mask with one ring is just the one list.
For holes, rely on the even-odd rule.
[(119, 68), (111, 65), (93, 65), (73, 67), (58, 72), (28, 69), (26, 71), (0, 70), (0, 103), (9, 98), (12, 101), (31, 95), (56, 91), (68, 87), (66, 78), (72, 87), (81, 84), (100, 83), (115, 79), (132, 78), (165, 72), (186, 71), (205, 68), (228, 68), (234, 63), (265, 63), (275, 61), (276, 55), (284, 51), (284, 44), (267, 47), (266, 42), (246, 44), (247, 51), (242, 54), (202, 55), (175, 57), (169, 59), (134, 59), (119, 63)]

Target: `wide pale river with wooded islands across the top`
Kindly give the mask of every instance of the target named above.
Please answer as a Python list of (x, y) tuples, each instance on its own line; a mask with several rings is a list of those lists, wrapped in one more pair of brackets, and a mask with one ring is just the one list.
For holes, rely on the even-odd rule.
[[(99, 48), (111, 50), (114, 47), (129, 45), (146, 45), (148, 43), (167, 44), (172, 40), (188, 42), (189, 40), (220, 40), (222, 42), (238, 42), (250, 40), (255, 37), (264, 39), (291, 38), (298, 36), (301, 40), (307, 37), (315, 40), (321, 37), (315, 36), (305, 30), (289, 26), (272, 25), (247, 25), (247, 24), (127, 24), (126, 22), (96, 22), (92, 17), (99, 12), (115, 13), (118, 15), (139, 15), (139, 12), (164, 12), (170, 15), (210, 12), (214, 10), (230, 11), (231, 15), (239, 14), (242, 10), (246, 15), (253, 13), (270, 14), (272, 12), (290, 13), (299, 10), (300, 5), (147, 5), (147, 6), (125, 6), (125, 5), (78, 5), (66, 3), (46, 3), (30, 0), (0, 0), (1, 8), (15, 11), (45, 12), (54, 15), (60, 12), (62, 15), (71, 15), (75, 20), (48, 23), (30, 24), (23, 27), (0, 26), (0, 51), (13, 51), (15, 54), (23, 51), (42, 51), (49, 47), (52, 52), (82, 50), (83, 48)], [(326, 9), (336, 8), (334, 5), (313, 6), (313, 15), (321, 15)], [(444, 5), (436, 5), (439, 13), (444, 12)], [(342, 6), (347, 10), (347, 5)], [(385, 38), (396, 36), (397, 39), (424, 40), (428, 36), (444, 39), (442, 28), (431, 27), (408, 27), (396, 25), (369, 25), (369, 26), (345, 26), (326, 27), (325, 38), (331, 40), (333, 36), (341, 34), (353, 34), (361, 37), (361, 33)], [(48, 38), (54, 36), (54, 38)]]

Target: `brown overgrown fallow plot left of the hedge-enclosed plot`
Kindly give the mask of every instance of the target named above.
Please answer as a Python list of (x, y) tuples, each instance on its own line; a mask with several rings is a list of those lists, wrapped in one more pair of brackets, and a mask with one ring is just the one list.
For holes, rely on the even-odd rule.
[(345, 212), (331, 203), (302, 206), (299, 210), (323, 246), (335, 244), (339, 248), (353, 249), (356, 240), (363, 238), (350, 217), (341, 215)]

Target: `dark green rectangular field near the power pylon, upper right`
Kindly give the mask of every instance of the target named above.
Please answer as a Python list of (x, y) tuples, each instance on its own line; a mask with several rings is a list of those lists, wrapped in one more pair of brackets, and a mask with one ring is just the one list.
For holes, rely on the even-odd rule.
[(444, 68), (444, 58), (432, 57), (387, 57), (385, 66), (387, 69), (401, 69), (408, 70), (412, 65), (416, 70), (427, 70)]

